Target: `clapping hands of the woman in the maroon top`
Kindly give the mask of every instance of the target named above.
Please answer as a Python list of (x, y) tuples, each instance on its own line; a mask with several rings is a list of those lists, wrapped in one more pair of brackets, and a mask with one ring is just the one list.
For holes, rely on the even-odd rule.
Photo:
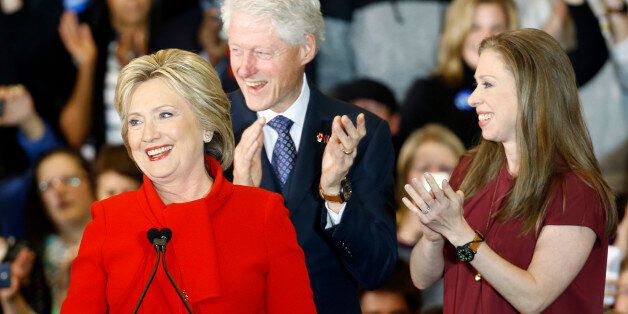
[(426, 227), (423, 229), (426, 239), (438, 241), (436, 236), (438, 234), (455, 246), (471, 241), (475, 232), (463, 216), (464, 193), (460, 190), (454, 192), (447, 180), (443, 180), (441, 189), (429, 173), (425, 174), (425, 179), (431, 191), (428, 192), (423, 184), (414, 178), (405, 186), (412, 202), (404, 198), (404, 203), (416, 213)]

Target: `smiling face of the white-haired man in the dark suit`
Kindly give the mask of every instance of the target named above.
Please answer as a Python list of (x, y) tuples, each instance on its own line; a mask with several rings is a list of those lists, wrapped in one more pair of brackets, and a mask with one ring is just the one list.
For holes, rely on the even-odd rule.
[(304, 45), (291, 46), (279, 38), (270, 19), (239, 12), (227, 31), (231, 68), (249, 109), (286, 111), (301, 93), (305, 64), (314, 58), (313, 36)]

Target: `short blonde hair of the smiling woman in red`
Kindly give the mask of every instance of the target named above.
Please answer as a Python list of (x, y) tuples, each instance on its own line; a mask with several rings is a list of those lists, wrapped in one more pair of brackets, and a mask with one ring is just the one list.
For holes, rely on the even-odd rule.
[(155, 78), (166, 82), (185, 99), (203, 130), (214, 132), (212, 140), (205, 144), (205, 151), (214, 156), (223, 169), (229, 168), (234, 148), (231, 103), (222, 90), (216, 71), (207, 61), (179, 49), (165, 49), (139, 57), (120, 71), (114, 104), (122, 120), (122, 138), (127, 150), (129, 101), (137, 86)]

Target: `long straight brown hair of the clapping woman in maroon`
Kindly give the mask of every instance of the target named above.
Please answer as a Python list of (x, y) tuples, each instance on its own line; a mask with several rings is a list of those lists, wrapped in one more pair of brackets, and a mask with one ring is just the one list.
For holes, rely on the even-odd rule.
[[(614, 196), (602, 179), (582, 118), (576, 78), (559, 43), (540, 30), (522, 29), (487, 38), (480, 53), (497, 52), (516, 82), (519, 170), (497, 219), (523, 220), (523, 233), (540, 231), (561, 174), (573, 172), (594, 189), (606, 209), (606, 232), (617, 226)], [(501, 144), (482, 140), (460, 189), (466, 198), (496, 177), (506, 156)], [(564, 191), (564, 189), (563, 189)], [(563, 198), (563, 207), (565, 201)]]

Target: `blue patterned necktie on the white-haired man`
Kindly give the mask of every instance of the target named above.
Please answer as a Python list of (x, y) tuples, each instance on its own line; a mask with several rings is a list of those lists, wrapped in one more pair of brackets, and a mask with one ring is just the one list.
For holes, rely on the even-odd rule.
[(288, 176), (294, 168), (297, 159), (297, 148), (290, 136), (290, 128), (294, 122), (284, 116), (276, 116), (268, 121), (268, 126), (275, 129), (279, 137), (273, 148), (273, 160), (271, 162), (275, 175), (281, 182), (281, 188), (288, 181)]

